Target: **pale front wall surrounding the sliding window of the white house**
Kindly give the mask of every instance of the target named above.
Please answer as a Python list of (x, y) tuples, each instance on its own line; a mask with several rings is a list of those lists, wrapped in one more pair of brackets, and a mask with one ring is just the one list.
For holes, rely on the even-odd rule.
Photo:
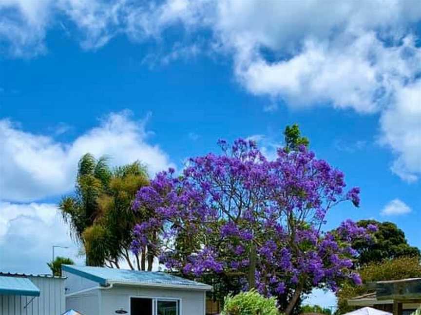
[(100, 290), (101, 315), (123, 309), (130, 315), (130, 297), (166, 297), (181, 299), (180, 315), (205, 315), (205, 293), (199, 290), (114, 286)]

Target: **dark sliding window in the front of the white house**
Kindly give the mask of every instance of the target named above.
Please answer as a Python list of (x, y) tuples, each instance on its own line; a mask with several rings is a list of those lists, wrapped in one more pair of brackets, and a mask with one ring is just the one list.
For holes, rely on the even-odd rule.
[(130, 315), (180, 315), (180, 301), (157, 297), (131, 297)]

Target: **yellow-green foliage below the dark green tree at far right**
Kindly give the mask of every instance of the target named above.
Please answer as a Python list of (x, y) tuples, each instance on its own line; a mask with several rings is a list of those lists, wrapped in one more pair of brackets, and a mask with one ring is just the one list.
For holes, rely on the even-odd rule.
[(401, 257), (386, 260), (382, 263), (369, 263), (359, 269), (358, 272), (363, 280), (363, 285), (355, 286), (351, 283), (344, 283), (337, 294), (337, 314), (344, 314), (355, 309), (355, 307), (348, 306), (347, 300), (368, 293), (367, 283), (381, 280), (419, 278), (421, 277), (421, 265), (418, 257)]

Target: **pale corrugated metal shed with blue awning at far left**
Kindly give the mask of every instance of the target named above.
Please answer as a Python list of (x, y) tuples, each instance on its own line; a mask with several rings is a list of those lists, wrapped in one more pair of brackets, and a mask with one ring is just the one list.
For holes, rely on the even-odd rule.
[(63, 277), (0, 272), (1, 315), (60, 315), (65, 310)]

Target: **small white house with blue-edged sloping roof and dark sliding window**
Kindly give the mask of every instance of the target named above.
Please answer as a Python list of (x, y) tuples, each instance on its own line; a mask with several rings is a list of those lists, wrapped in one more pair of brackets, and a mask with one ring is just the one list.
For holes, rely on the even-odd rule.
[(205, 315), (212, 287), (163, 272), (63, 265), (66, 308), (85, 315)]

